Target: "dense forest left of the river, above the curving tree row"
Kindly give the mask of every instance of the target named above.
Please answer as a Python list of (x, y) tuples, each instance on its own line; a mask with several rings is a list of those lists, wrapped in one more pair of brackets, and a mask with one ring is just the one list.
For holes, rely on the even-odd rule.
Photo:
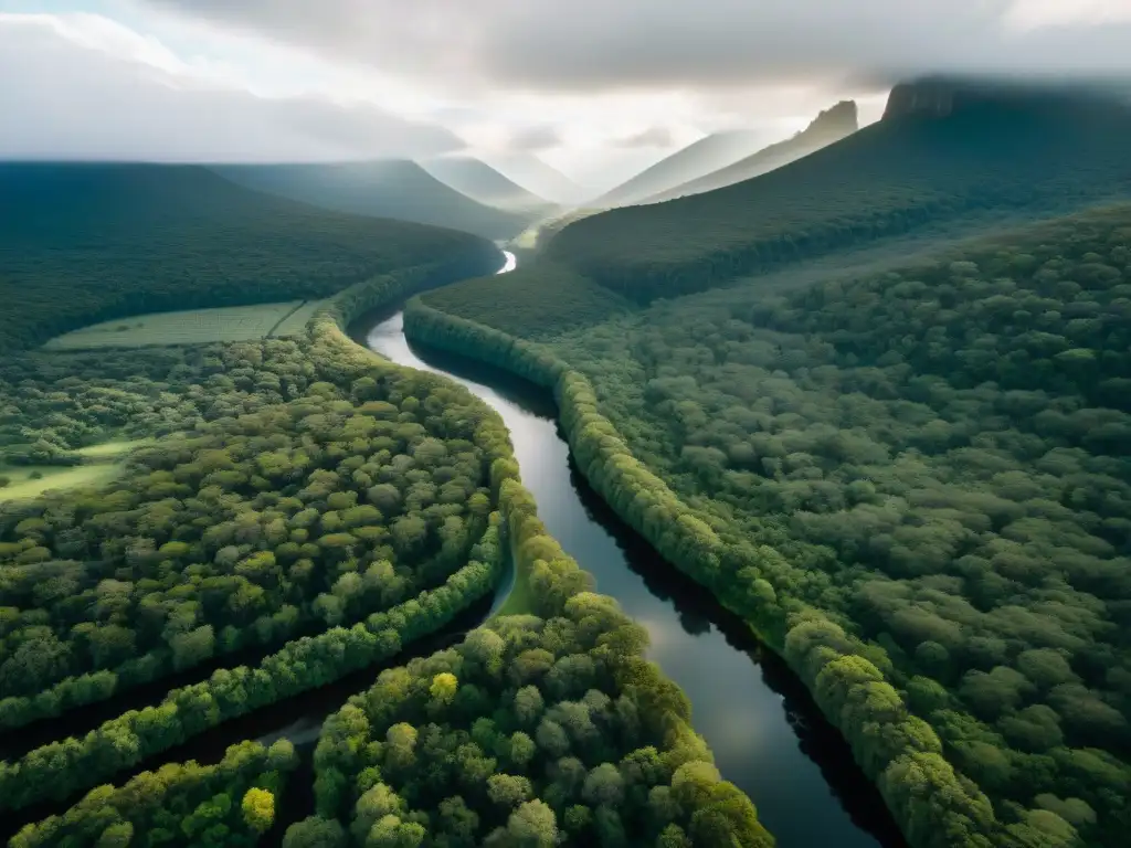
[(97, 494), (0, 509), (2, 725), (62, 711), (55, 692), (85, 702), (71, 690), (387, 609), (485, 529), (480, 415), (428, 383), (348, 380), (291, 340), (37, 354), (0, 373), (6, 427), (38, 461), (115, 424), (179, 432)]

